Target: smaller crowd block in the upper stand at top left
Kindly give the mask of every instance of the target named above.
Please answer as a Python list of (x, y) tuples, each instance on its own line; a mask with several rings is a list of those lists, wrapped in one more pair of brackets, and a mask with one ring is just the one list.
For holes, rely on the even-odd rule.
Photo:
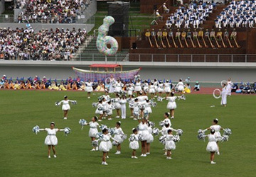
[(18, 23), (75, 23), (77, 16), (92, 0), (18, 0), (16, 8), (26, 8), (18, 16)]

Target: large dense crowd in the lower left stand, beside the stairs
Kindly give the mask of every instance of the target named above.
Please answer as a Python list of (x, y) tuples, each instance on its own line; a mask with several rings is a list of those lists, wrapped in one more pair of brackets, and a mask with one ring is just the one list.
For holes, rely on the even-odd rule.
[(86, 30), (0, 28), (0, 59), (70, 60), (86, 38)]

